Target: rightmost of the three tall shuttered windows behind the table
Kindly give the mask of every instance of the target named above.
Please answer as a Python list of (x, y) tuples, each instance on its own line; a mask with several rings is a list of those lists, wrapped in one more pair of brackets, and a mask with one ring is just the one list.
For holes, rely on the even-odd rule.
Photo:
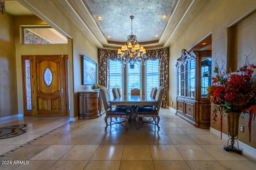
[(147, 60), (145, 66), (146, 75), (146, 92), (147, 96), (150, 96), (151, 89), (153, 87), (159, 88), (159, 59)]

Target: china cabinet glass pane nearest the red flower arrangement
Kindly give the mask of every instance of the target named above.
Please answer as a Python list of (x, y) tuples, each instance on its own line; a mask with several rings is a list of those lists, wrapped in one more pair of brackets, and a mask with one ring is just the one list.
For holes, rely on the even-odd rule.
[(212, 57), (201, 58), (201, 98), (207, 98), (207, 88), (211, 85)]

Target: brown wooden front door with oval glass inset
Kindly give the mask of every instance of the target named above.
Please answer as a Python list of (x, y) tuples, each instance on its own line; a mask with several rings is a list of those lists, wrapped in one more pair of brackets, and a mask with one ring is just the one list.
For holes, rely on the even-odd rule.
[[(23, 58), (28, 58), (25, 56)], [(32, 115), (66, 115), (65, 57), (29, 56), (31, 59)], [(26, 106), (25, 106), (26, 115)], [(27, 115), (31, 115), (31, 113)]]

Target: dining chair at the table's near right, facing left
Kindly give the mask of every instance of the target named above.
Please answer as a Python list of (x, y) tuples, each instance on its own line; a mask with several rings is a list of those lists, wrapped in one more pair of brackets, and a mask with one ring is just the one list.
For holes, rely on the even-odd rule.
[[(137, 129), (139, 129), (140, 125), (144, 123), (151, 123), (153, 125), (157, 125), (158, 129), (160, 128), (158, 123), (160, 121), (160, 117), (158, 115), (161, 103), (162, 103), (162, 98), (164, 95), (164, 87), (160, 86), (159, 89), (156, 92), (156, 106), (155, 107), (138, 107), (137, 109), (137, 116), (136, 116), (136, 122), (137, 122)], [(144, 121), (143, 117), (152, 117), (153, 119), (150, 119), (149, 121)], [(142, 119), (140, 119), (142, 118)], [(157, 122), (156, 122), (157, 118)], [(140, 123), (139, 121), (142, 121)]]

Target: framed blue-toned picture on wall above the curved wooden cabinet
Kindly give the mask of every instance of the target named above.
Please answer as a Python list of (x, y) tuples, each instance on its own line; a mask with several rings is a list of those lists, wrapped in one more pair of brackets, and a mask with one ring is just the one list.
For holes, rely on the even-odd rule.
[(97, 63), (82, 55), (82, 83), (83, 85), (97, 84)]

